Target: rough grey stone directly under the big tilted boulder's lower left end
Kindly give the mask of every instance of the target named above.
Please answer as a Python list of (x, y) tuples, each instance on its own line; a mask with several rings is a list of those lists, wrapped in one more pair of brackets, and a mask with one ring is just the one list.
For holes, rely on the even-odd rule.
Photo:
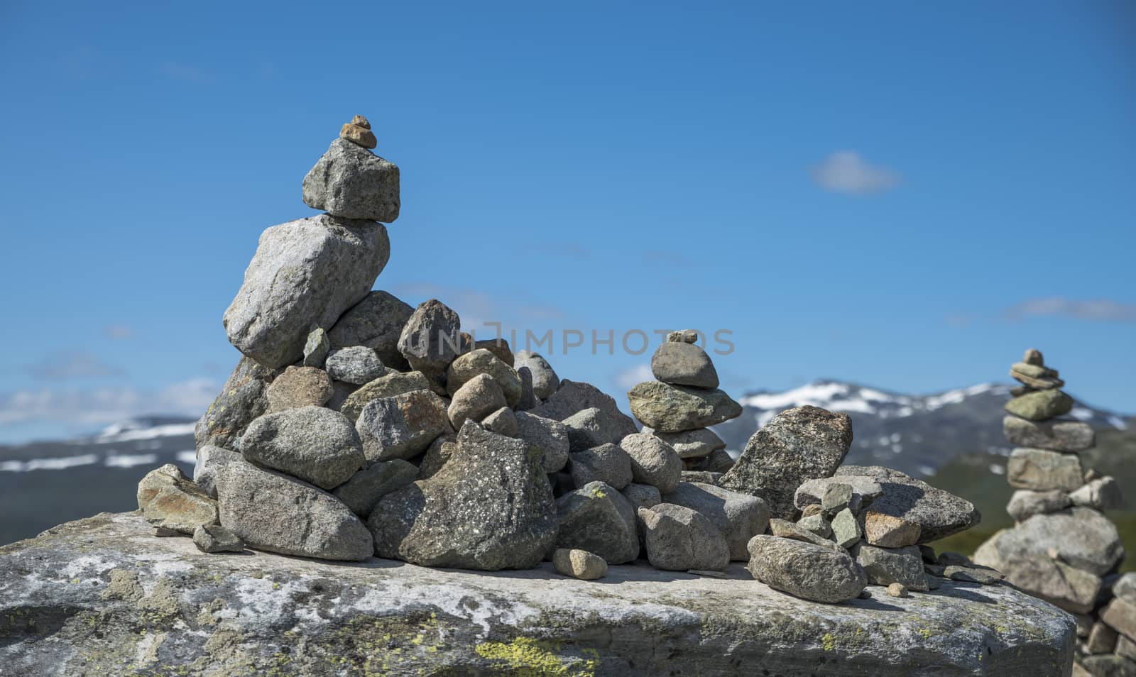
[(220, 388), (220, 394), (194, 426), (195, 446), (240, 449), (244, 429), (253, 419), (268, 411), (266, 391), (274, 375), (274, 369), (261, 366), (252, 358), (242, 357)]

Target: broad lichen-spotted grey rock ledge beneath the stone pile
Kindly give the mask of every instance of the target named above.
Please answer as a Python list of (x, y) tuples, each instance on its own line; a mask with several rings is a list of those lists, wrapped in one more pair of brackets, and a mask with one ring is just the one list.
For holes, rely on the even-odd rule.
[[(663, 585), (665, 583), (665, 585)], [(1068, 675), (1072, 617), (1009, 586), (820, 604), (738, 565), (584, 582), (204, 554), (102, 513), (0, 548), (2, 675)]]

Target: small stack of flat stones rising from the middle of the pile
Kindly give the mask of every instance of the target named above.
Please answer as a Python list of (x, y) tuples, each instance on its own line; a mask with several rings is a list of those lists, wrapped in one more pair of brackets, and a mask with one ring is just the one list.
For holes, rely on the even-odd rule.
[(695, 345), (696, 329), (671, 332), (651, 357), (658, 379), (627, 393), (643, 432), (662, 440), (683, 459), (683, 479), (715, 484), (734, 460), (709, 426), (741, 416), (742, 408), (718, 390), (718, 370)]

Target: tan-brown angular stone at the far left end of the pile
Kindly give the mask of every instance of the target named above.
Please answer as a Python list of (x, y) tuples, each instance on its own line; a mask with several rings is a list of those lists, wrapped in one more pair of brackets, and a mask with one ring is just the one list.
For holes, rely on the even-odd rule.
[(217, 501), (173, 463), (148, 473), (139, 482), (139, 510), (156, 528), (192, 535), (203, 524), (217, 523)]

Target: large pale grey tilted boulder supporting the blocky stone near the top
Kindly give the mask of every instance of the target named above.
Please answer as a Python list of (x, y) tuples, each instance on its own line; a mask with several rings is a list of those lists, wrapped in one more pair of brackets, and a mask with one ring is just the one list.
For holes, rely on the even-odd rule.
[(229, 342), (270, 369), (295, 362), (311, 326), (334, 325), (362, 300), (390, 256), (373, 222), (325, 214), (266, 229), (225, 311)]

